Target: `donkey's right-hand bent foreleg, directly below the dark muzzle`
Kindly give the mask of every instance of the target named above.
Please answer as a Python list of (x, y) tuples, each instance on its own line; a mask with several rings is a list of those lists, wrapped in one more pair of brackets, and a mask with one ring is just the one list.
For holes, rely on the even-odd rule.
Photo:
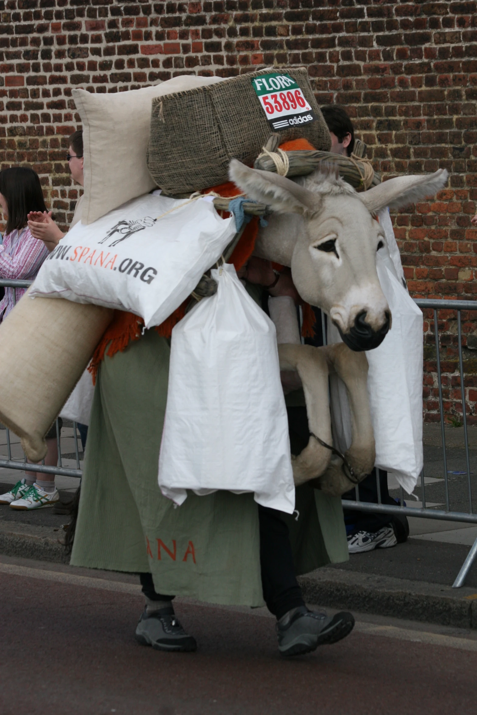
[(355, 478), (349, 479), (343, 462), (333, 458), (320, 478), (320, 488), (335, 496), (345, 493), (361, 481), (374, 467), (375, 442), (368, 398), (368, 360), (364, 352), (353, 352), (342, 342), (320, 348), (328, 359), (330, 372), (334, 371), (345, 383), (350, 403), (350, 448), (345, 459), (353, 468)]

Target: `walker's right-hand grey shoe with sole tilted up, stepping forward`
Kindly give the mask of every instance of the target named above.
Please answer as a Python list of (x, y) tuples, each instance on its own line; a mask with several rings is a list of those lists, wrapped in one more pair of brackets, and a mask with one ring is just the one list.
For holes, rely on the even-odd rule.
[(332, 618), (298, 606), (277, 622), (278, 650), (283, 656), (301, 656), (318, 646), (337, 643), (348, 636), (354, 625), (351, 613), (341, 611)]

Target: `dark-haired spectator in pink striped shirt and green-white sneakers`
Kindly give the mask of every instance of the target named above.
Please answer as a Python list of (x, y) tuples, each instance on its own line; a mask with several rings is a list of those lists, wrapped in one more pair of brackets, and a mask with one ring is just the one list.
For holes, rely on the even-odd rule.
[[(0, 277), (32, 280), (48, 255), (45, 245), (31, 235), (27, 225), (29, 211), (46, 212), (40, 180), (33, 169), (13, 167), (0, 172), (0, 206), (6, 221), (4, 240), (0, 245)], [(9, 314), (25, 290), (6, 288), (4, 299), (0, 302), (1, 320)], [(56, 465), (56, 425), (53, 425), (45, 438), (45, 464)], [(0, 495), (0, 504), (10, 505), (14, 509), (36, 509), (50, 506), (59, 500), (54, 475), (43, 475), (41, 472), (25, 474), (25, 478), (17, 482), (14, 488)]]

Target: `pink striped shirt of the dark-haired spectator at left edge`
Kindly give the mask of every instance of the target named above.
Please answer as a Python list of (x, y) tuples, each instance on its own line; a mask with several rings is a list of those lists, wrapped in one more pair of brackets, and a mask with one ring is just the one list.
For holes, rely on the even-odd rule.
[[(48, 255), (43, 241), (34, 238), (26, 226), (4, 235), (0, 245), (0, 278), (33, 280), (41, 264)], [(0, 320), (3, 320), (26, 291), (26, 288), (5, 288), (4, 299), (0, 302)]]

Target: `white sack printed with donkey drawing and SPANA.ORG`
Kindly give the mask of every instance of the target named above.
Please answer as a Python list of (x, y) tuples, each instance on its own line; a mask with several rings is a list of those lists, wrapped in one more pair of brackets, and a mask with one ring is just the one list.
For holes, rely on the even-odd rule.
[(210, 199), (146, 194), (77, 223), (46, 258), (31, 295), (130, 310), (146, 327), (160, 325), (234, 235), (234, 217), (222, 219)]

